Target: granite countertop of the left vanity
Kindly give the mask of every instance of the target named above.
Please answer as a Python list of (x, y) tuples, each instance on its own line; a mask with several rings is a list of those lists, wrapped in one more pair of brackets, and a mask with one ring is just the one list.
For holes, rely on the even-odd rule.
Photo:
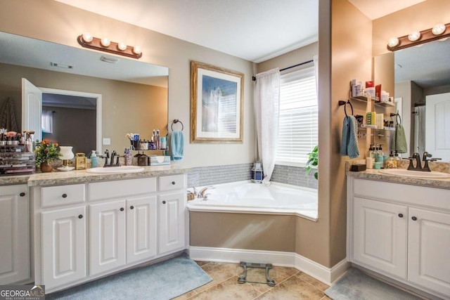
[(167, 176), (174, 174), (184, 174), (190, 171), (190, 168), (176, 165), (169, 166), (149, 166), (143, 167), (143, 171), (136, 173), (122, 174), (93, 174), (86, 170), (74, 171), (51, 171), (49, 173), (36, 173), (31, 175), (4, 176), (0, 177), (0, 185), (27, 184), (28, 186), (37, 185), (60, 185), (71, 183), (86, 183), (95, 181), (110, 181), (118, 179), (133, 179), (153, 176)]

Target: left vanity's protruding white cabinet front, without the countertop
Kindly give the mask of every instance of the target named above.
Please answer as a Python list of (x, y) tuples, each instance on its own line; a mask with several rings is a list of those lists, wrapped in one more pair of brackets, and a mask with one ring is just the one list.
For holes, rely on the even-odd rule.
[(46, 292), (186, 248), (186, 175), (33, 187), (34, 270)]

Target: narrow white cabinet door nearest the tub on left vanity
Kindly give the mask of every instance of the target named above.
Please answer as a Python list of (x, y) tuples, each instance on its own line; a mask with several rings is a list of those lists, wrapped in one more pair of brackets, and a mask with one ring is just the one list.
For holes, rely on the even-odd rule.
[(158, 202), (160, 254), (185, 247), (184, 197), (185, 194), (181, 192), (160, 195)]

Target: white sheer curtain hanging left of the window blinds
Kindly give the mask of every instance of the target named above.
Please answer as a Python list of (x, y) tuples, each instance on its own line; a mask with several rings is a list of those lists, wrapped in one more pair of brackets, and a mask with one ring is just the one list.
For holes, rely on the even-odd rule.
[(280, 70), (276, 68), (256, 74), (254, 94), (258, 157), (262, 161), (263, 182), (267, 182), (274, 171), (278, 144)]

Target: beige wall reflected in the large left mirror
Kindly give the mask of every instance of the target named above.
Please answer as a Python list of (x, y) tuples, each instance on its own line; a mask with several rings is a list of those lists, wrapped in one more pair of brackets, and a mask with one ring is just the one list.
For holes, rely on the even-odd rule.
[(153, 127), (160, 128), (163, 135), (166, 133), (166, 88), (0, 64), (0, 89), (15, 95), (19, 115), (22, 77), (42, 88), (100, 93), (103, 137), (111, 138), (111, 145), (103, 145), (103, 149), (122, 153), (129, 147), (125, 137), (129, 132), (141, 133), (146, 139), (151, 137)]

